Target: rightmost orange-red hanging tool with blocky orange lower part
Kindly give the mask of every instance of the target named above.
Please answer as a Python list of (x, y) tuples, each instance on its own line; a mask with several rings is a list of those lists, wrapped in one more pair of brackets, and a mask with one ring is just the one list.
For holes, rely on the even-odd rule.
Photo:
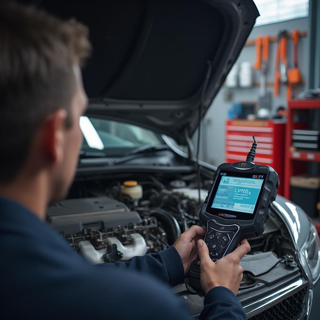
[[(298, 68), (298, 44), (299, 32), (298, 30), (292, 31), (292, 46), (293, 46), (293, 68), (288, 69), (288, 88), (287, 99), (293, 99), (298, 95), (298, 84), (301, 81), (301, 74)], [(292, 87), (294, 90), (292, 90)]]

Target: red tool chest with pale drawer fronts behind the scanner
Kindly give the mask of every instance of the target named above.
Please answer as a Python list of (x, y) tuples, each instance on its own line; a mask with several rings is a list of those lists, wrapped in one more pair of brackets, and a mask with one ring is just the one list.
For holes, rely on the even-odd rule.
[(252, 146), (252, 136), (257, 140), (254, 162), (269, 165), (280, 179), (278, 194), (283, 195), (284, 184), (284, 137), (283, 120), (227, 120), (226, 162), (245, 161)]

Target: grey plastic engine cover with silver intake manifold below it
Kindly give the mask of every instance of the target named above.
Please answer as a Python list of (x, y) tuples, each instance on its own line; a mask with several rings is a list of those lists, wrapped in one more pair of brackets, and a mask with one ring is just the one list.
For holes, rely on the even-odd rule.
[(109, 197), (65, 200), (48, 209), (49, 223), (92, 263), (129, 260), (169, 246), (155, 217)]

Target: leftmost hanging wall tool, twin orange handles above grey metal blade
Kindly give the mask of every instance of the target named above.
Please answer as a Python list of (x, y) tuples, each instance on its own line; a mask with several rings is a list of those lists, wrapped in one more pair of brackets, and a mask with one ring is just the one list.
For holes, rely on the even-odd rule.
[[(270, 116), (271, 110), (271, 92), (266, 89), (268, 59), (269, 59), (269, 36), (263, 38), (258, 37), (256, 41), (256, 62), (255, 69), (261, 69), (260, 78), (260, 94), (258, 100), (258, 117), (266, 118)], [(262, 46), (262, 61), (261, 61), (261, 46)]]

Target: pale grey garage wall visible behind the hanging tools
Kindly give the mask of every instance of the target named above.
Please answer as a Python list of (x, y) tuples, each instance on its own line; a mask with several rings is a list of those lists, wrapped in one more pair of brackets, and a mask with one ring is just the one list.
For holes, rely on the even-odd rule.
[[(290, 21), (284, 21), (280, 23), (270, 24), (266, 26), (260, 26), (253, 28), (249, 39), (255, 39), (256, 36), (276, 36), (280, 30), (286, 29), (291, 32), (293, 29), (299, 31), (308, 31), (309, 18), (300, 18)], [(303, 79), (306, 82), (304, 86), (300, 86), (299, 91), (304, 91), (308, 88), (308, 70), (309, 70), (309, 39), (307, 37), (301, 37), (298, 49), (298, 63), (302, 73)], [(276, 56), (276, 42), (270, 43), (269, 50), (269, 64), (267, 81), (273, 82), (274, 68), (275, 68), (275, 56)], [(287, 59), (289, 68), (292, 67), (292, 42), (288, 40), (287, 43)], [(252, 64), (255, 60), (255, 46), (245, 46), (240, 53), (240, 56), (236, 63), (243, 61), (250, 61)], [(260, 71), (254, 71), (254, 81), (260, 82)], [(273, 87), (268, 87), (268, 91), (273, 91)], [(226, 101), (227, 94), (231, 94), (232, 99)], [(232, 108), (232, 104), (241, 101), (257, 101), (259, 96), (259, 87), (250, 89), (236, 88), (229, 89), (222, 87), (220, 92), (213, 101), (209, 108), (202, 126), (202, 143), (200, 148), (201, 159), (213, 164), (219, 165), (225, 161), (224, 159), (224, 139), (225, 129), (224, 124), (228, 118), (228, 110)], [(275, 111), (279, 106), (286, 107), (286, 87), (281, 86), (280, 94), (278, 97), (272, 97), (272, 108)]]

